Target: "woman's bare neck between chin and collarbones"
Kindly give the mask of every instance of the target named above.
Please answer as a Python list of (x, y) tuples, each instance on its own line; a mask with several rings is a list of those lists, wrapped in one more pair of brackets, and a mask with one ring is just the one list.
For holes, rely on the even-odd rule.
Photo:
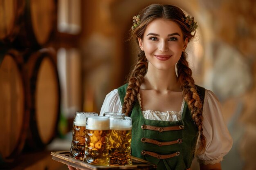
[(175, 68), (168, 71), (148, 68), (141, 89), (155, 90), (159, 93), (167, 91), (181, 91), (180, 82), (175, 73)]

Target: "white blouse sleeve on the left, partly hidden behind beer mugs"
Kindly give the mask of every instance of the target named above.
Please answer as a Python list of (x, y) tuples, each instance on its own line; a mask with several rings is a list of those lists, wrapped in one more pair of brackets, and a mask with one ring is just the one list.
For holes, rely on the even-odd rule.
[(105, 112), (122, 112), (122, 105), (117, 89), (112, 90), (106, 95), (99, 115), (103, 116)]

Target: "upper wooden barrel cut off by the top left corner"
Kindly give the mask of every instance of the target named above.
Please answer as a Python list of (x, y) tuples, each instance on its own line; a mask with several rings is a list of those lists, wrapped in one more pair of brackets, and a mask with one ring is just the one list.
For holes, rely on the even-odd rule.
[(20, 31), (24, 0), (0, 0), (0, 42), (10, 44)]

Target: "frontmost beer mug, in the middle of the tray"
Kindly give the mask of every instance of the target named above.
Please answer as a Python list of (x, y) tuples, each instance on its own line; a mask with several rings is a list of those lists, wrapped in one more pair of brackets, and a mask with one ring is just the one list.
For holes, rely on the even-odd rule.
[(109, 166), (109, 117), (88, 117), (86, 120), (84, 161), (92, 165)]

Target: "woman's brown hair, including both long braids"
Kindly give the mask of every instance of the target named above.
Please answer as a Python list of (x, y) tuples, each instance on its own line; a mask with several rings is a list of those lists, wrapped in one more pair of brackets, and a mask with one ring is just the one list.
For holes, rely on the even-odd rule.
[[(178, 7), (172, 5), (151, 4), (145, 9), (142, 9), (138, 15), (140, 16), (140, 23), (135, 29), (132, 30), (130, 37), (130, 40), (135, 40), (137, 44), (138, 38), (143, 39), (143, 35), (148, 24), (157, 18), (164, 18), (176, 22), (182, 30), (184, 40), (186, 38), (190, 40), (195, 36), (195, 30), (193, 30), (193, 32), (189, 31), (188, 26), (184, 23), (184, 21), (182, 21), (182, 18), (186, 18), (186, 16), (184, 12)], [(122, 107), (122, 112), (127, 116), (130, 116), (132, 107), (137, 99), (137, 94), (139, 93), (139, 88), (144, 82), (144, 76), (146, 75), (147, 68), (148, 61), (146, 59), (145, 53), (144, 51), (140, 50), (137, 63), (128, 76), (128, 87), (126, 89), (124, 105)], [(189, 106), (192, 119), (194, 120), (200, 132), (200, 147), (198, 152), (204, 152), (206, 139), (203, 135), (202, 128), (202, 101), (195, 87), (194, 79), (191, 76), (192, 71), (189, 68), (188, 62), (186, 61), (185, 52), (182, 52), (181, 58), (177, 62), (177, 70), (178, 79), (181, 84), (182, 95), (184, 96), (184, 100)]]

